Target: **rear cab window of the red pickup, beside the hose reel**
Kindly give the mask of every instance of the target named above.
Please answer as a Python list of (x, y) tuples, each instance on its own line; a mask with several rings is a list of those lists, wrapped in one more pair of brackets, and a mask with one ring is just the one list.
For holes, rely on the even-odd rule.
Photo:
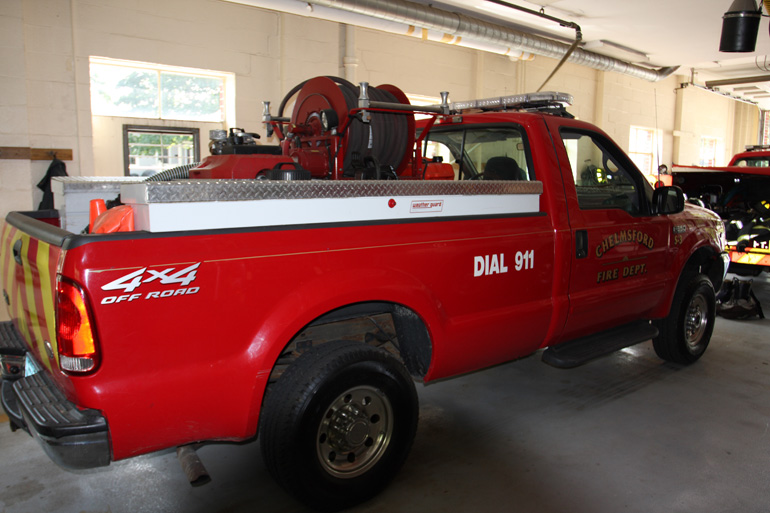
[(434, 129), (423, 157), (450, 165), (454, 180), (535, 180), (529, 146), (518, 127)]

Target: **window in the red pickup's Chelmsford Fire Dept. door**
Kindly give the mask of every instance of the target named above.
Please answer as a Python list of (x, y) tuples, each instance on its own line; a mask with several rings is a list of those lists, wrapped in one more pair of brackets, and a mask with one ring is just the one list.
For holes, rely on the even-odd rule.
[(598, 136), (569, 128), (561, 130), (581, 210), (620, 209), (644, 213), (644, 185), (638, 172), (612, 153), (610, 143)]

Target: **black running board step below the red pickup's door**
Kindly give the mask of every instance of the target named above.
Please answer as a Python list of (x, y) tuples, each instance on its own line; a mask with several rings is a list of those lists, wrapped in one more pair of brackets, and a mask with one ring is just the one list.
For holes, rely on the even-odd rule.
[(635, 321), (595, 335), (551, 346), (543, 352), (543, 361), (560, 369), (571, 369), (657, 336), (658, 328), (649, 321)]

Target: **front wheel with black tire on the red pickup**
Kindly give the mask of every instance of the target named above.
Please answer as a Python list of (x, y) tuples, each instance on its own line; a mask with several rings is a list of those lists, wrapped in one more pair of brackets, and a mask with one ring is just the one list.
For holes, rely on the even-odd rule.
[(714, 331), (716, 299), (714, 286), (702, 274), (683, 275), (679, 280), (668, 317), (655, 322), (659, 334), (652, 339), (662, 359), (690, 364), (708, 347)]

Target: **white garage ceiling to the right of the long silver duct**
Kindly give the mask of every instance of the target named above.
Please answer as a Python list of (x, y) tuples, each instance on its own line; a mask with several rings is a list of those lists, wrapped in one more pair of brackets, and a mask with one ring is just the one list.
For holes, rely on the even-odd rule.
[[(487, 0), (413, 0), (444, 10), (459, 11), (501, 25), (538, 31), (565, 42), (575, 31)], [(770, 35), (768, 18), (760, 22), (756, 50), (722, 53), (719, 39), (722, 16), (732, 0), (509, 0), (580, 25), (583, 48), (661, 68), (680, 66), (678, 74), (693, 76), (697, 84), (733, 81), (719, 85), (721, 92), (754, 101), (770, 109)], [(767, 14), (763, 10), (763, 14)], [(760, 78), (757, 78), (760, 77)]]

